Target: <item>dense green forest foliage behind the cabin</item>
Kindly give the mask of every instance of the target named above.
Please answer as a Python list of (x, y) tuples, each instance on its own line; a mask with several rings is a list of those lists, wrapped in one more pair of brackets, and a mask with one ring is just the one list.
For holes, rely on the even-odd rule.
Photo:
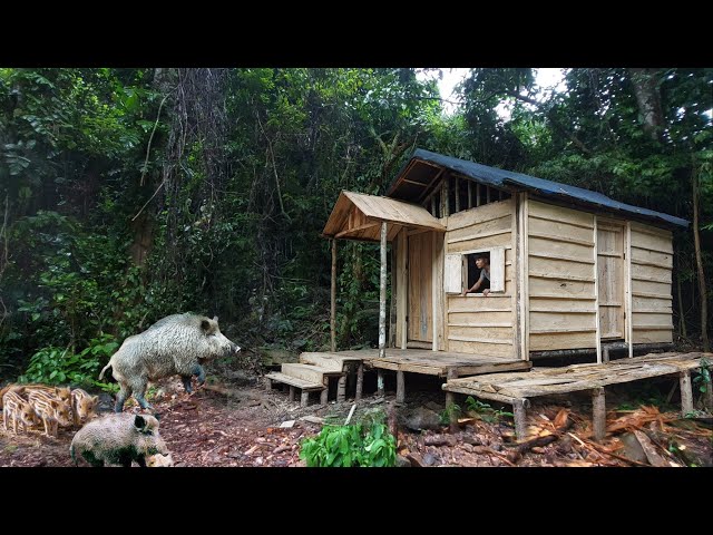
[[(247, 348), (324, 347), (320, 232), (417, 146), (687, 220), (695, 194), (713, 278), (713, 69), (569, 69), (559, 93), (473, 69), (452, 115), (417, 74), (0, 68), (0, 377), (90, 374), (189, 310)], [(675, 325), (700, 343), (693, 232), (675, 246)], [(339, 347), (373, 344), (377, 249), (340, 242), (338, 271)]]

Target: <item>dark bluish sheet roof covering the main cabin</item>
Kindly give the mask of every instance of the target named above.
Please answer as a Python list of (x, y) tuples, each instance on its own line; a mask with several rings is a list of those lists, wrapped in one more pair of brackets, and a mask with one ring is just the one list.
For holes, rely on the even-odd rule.
[(606, 195), (592, 192), (589, 189), (546, 181), (545, 178), (537, 178), (521, 173), (514, 173), (511, 171), (498, 169), (497, 167), (489, 167), (487, 165), (476, 164), (475, 162), (468, 162), (466, 159), (443, 156), (442, 154), (431, 153), (430, 150), (424, 150), (422, 148), (417, 148), (411, 155), (411, 159), (407, 162), (401, 171), (399, 171), (395, 181), (387, 193), (388, 196), (399, 196), (393, 194), (399, 188), (399, 182), (404, 172), (409, 169), (409, 164), (414, 159), (430, 162), (431, 164), (447, 167), (462, 174), (463, 176), (472, 178), (473, 181), (490, 186), (515, 186), (516, 188), (527, 189), (546, 197), (556, 197), (563, 201), (569, 201), (576, 204), (588, 205), (606, 211), (635, 214), (642, 218), (653, 220), (660, 223), (665, 222), (671, 225), (688, 226), (688, 222), (681, 217), (633, 206), (631, 204), (619, 203)]

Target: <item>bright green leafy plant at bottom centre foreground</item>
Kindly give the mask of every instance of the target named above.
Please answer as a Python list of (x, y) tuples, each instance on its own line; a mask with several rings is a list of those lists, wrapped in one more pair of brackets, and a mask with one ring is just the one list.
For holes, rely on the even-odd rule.
[(300, 458), (307, 466), (394, 466), (395, 438), (381, 422), (324, 426), (316, 437), (301, 442)]

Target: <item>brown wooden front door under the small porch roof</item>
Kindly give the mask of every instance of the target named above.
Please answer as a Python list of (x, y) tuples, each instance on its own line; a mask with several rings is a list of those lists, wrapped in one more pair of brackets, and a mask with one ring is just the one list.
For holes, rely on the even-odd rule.
[(433, 236), (420, 232), (408, 236), (409, 315), (407, 342), (433, 341), (432, 262)]

